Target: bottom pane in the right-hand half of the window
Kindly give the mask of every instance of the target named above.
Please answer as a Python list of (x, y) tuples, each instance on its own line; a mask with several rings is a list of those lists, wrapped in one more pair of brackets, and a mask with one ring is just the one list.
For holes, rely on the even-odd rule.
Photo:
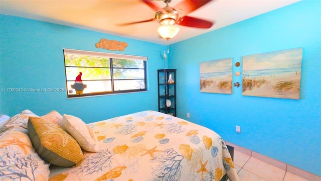
[(114, 80), (115, 91), (145, 88), (144, 80)]

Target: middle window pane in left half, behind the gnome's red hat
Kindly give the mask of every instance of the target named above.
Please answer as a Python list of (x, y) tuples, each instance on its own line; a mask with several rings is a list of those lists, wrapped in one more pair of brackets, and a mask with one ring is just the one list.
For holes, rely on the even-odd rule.
[(82, 80), (97, 80), (111, 78), (109, 68), (66, 67), (67, 80), (75, 80), (79, 72), (82, 73)]

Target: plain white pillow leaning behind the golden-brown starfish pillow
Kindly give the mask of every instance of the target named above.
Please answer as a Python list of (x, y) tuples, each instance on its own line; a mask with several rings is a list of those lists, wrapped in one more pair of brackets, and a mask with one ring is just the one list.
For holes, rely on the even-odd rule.
[(62, 128), (66, 130), (86, 151), (98, 152), (98, 141), (92, 129), (80, 118), (65, 115), (62, 118)]

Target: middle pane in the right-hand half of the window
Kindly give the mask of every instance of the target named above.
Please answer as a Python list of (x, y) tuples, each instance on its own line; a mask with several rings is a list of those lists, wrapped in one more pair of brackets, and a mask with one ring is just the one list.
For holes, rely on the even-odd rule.
[(144, 70), (141, 69), (123, 69), (114, 68), (113, 69), (114, 79), (144, 79)]

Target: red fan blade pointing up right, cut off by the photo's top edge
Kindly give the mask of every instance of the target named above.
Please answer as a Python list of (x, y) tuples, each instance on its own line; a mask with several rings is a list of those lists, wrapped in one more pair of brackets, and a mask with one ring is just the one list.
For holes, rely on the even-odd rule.
[(185, 0), (177, 4), (175, 8), (181, 10), (183, 15), (187, 15), (211, 1), (212, 0)]

